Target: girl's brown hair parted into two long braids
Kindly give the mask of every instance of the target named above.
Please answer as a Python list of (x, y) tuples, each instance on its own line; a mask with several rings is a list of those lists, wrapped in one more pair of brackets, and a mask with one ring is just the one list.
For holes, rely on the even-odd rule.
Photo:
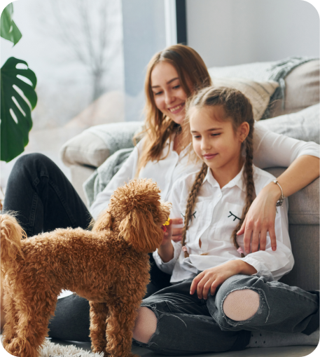
[[(242, 94), (239, 90), (233, 88), (224, 88), (224, 87), (209, 87), (200, 90), (193, 97), (191, 97), (186, 103), (186, 120), (183, 123), (183, 135), (187, 138), (189, 142), (191, 141), (190, 134), (190, 125), (189, 125), (189, 111), (191, 108), (196, 107), (197, 109), (203, 107), (214, 107), (219, 105), (223, 107), (225, 116), (222, 118), (225, 121), (231, 121), (232, 128), (236, 132), (237, 128), (244, 123), (249, 123), (249, 134), (246, 137), (246, 140), (242, 143), (242, 147), (245, 147), (246, 159), (244, 161), (244, 182), (246, 184), (246, 203), (242, 210), (242, 217), (237, 224), (237, 227), (232, 232), (232, 242), (235, 245), (235, 248), (239, 248), (237, 243), (237, 231), (242, 226), (246, 213), (253, 202), (253, 199), (256, 196), (256, 189), (253, 182), (253, 112), (252, 106), (249, 99)], [(208, 166), (206, 163), (202, 164), (202, 168), (197, 177), (195, 177), (195, 182), (193, 187), (190, 189), (190, 194), (186, 206), (186, 215), (184, 220), (184, 227), (182, 233), (182, 246), (186, 245), (186, 232), (188, 230), (189, 222), (192, 219), (193, 208), (195, 207), (195, 201), (197, 194), (200, 191), (204, 177), (207, 175)], [(188, 252), (185, 251), (185, 257), (188, 257)], [(242, 254), (242, 257), (244, 255)]]

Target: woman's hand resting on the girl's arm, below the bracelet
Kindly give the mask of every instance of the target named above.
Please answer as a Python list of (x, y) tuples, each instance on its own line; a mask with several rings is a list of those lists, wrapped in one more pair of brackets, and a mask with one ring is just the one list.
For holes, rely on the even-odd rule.
[[(276, 217), (276, 203), (281, 191), (277, 184), (270, 182), (256, 196), (244, 219), (241, 229), (237, 232), (244, 234), (244, 250), (246, 253), (265, 250), (267, 232), (269, 232), (272, 250), (277, 249), (274, 220)], [(252, 241), (251, 241), (252, 236)]]

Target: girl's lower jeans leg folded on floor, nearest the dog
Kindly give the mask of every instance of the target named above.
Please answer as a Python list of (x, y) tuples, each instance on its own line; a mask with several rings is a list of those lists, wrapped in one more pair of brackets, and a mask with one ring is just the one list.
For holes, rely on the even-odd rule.
[(190, 295), (193, 279), (162, 289), (144, 299), (152, 309), (157, 329), (148, 344), (133, 344), (168, 356), (241, 350), (249, 344), (249, 331), (223, 331), (209, 313), (207, 302)]

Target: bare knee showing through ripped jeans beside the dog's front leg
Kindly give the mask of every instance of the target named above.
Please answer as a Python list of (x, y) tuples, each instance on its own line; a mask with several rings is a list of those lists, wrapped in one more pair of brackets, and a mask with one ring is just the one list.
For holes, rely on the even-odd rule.
[(157, 317), (148, 307), (140, 307), (137, 320), (134, 323), (133, 338), (144, 344), (149, 342), (157, 328)]

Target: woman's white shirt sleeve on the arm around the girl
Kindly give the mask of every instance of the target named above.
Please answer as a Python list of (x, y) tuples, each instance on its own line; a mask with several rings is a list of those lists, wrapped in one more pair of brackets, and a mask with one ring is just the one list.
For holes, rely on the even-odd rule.
[(287, 168), (302, 155), (316, 156), (320, 159), (319, 144), (274, 133), (259, 123), (255, 124), (253, 151), (253, 163), (258, 168)]

